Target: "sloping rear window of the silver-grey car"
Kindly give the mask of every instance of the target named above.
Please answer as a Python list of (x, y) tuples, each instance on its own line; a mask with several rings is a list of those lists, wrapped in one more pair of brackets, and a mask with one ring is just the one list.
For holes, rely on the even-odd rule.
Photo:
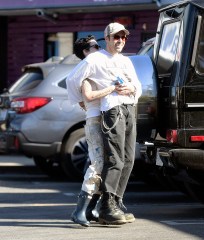
[(10, 88), (9, 92), (29, 91), (43, 80), (43, 73), (40, 69), (32, 69), (26, 71)]

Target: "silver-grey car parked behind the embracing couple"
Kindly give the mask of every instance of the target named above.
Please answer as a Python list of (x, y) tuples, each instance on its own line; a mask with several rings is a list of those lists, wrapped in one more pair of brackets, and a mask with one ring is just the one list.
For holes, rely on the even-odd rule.
[[(147, 70), (143, 64), (146, 57), (141, 56), (140, 60), (138, 56), (129, 57), (139, 69), (145, 66)], [(17, 150), (33, 158), (50, 176), (65, 173), (72, 180), (82, 178), (89, 164), (85, 112), (78, 104), (70, 104), (65, 83), (66, 76), (78, 62), (79, 59), (71, 55), (23, 67), (23, 75), (0, 95), (1, 152)], [(147, 74), (148, 71), (143, 75)], [(152, 94), (146, 78), (143, 90), (145, 95), (140, 100), (138, 114), (140, 130), (140, 125), (148, 119), (146, 108)], [(138, 139), (145, 132), (140, 130)], [(141, 174), (139, 158), (136, 154), (137, 174)]]

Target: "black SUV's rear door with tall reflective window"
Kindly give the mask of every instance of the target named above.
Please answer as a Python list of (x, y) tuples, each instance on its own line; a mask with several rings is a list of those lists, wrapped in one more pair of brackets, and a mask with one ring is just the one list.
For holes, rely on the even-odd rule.
[(182, 45), (181, 21), (167, 21), (161, 28), (156, 68), (158, 72), (158, 130), (166, 137), (166, 129), (176, 125), (176, 73)]

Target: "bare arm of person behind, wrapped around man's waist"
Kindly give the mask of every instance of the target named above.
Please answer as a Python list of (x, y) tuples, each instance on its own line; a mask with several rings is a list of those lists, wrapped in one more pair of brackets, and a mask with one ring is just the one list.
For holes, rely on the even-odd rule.
[(116, 90), (116, 86), (112, 85), (102, 90), (92, 90), (92, 86), (89, 80), (84, 80), (81, 89), (82, 94), (85, 96), (87, 102), (91, 102), (95, 99), (105, 97), (106, 95), (112, 93), (113, 91)]

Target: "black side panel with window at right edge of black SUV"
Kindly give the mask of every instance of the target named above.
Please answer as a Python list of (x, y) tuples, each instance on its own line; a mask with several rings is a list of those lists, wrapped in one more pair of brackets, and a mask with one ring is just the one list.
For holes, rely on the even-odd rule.
[(191, 69), (184, 87), (187, 138), (204, 136), (204, 15), (198, 16)]

